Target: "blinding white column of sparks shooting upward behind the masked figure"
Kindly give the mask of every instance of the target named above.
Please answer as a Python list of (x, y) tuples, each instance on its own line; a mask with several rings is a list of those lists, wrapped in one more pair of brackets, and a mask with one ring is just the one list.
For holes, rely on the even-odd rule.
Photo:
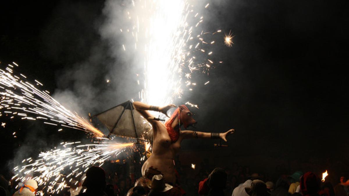
[(208, 60), (208, 57), (214, 59), (214, 51), (209, 47), (215, 43), (213, 35), (221, 30), (205, 32), (200, 11), (207, 12), (209, 3), (194, 5), (191, 2), (194, 1), (132, 1), (125, 10), (128, 23), (120, 27), (120, 31), (134, 42), (122, 48), (133, 48), (139, 59), (144, 59), (138, 63), (144, 65), (144, 79), (137, 82), (144, 86), (139, 99), (145, 103), (164, 105), (178, 101), (193, 90), (186, 82), (196, 83), (191, 81), (192, 74), (208, 75), (216, 66)]

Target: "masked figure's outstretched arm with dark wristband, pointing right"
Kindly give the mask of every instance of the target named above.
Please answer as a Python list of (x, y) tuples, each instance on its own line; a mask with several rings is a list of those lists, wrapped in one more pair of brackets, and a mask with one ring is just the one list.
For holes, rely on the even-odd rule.
[(181, 131), (181, 135), (183, 135), (183, 139), (190, 139), (190, 138), (211, 138), (211, 139), (222, 139), (225, 142), (227, 142), (227, 136), (230, 134), (233, 134), (235, 132), (234, 129), (229, 129), (228, 131), (224, 133), (207, 133), (207, 132), (200, 132), (200, 131)]

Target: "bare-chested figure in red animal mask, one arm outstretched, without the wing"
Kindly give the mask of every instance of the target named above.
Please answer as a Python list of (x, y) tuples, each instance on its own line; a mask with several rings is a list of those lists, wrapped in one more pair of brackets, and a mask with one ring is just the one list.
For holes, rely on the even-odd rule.
[(153, 166), (163, 174), (166, 183), (172, 185), (176, 184), (173, 158), (176, 157), (182, 140), (189, 138), (221, 138), (227, 142), (227, 136), (234, 133), (234, 129), (230, 129), (224, 133), (181, 130), (182, 125), (186, 129), (196, 124), (196, 121), (193, 119), (193, 113), (185, 105), (178, 106), (170, 119), (164, 124), (150, 114), (149, 110), (161, 112), (167, 116), (167, 111), (172, 107), (176, 107), (175, 105), (169, 104), (158, 107), (135, 101), (133, 102), (133, 106), (153, 127), (153, 152), (142, 166), (142, 176), (144, 176), (145, 171), (149, 167)]

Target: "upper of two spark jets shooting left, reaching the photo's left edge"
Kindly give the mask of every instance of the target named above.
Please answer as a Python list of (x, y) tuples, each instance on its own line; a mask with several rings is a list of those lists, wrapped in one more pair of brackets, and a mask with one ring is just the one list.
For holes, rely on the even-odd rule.
[[(16, 67), (18, 66), (14, 63)], [(47, 125), (86, 131), (94, 136), (104, 134), (53, 99), (48, 91), (40, 90), (43, 84), (33, 85), (23, 74), (17, 74), (13, 65), (0, 69), (0, 115), (18, 116), (25, 120), (42, 120)], [(2, 68), (2, 67), (1, 67)], [(6, 123), (2, 123), (5, 126)]]

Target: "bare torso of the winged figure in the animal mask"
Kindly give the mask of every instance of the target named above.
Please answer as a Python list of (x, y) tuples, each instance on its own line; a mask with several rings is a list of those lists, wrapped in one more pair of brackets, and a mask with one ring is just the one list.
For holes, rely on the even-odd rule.
[(161, 123), (157, 122), (156, 126), (153, 125), (154, 140), (153, 150), (151, 156), (144, 162), (142, 166), (142, 175), (146, 169), (153, 166), (157, 168), (164, 175), (166, 183), (176, 183), (176, 174), (174, 171), (174, 157), (180, 150), (181, 137), (171, 143), (171, 138), (167, 133), (166, 127)]

